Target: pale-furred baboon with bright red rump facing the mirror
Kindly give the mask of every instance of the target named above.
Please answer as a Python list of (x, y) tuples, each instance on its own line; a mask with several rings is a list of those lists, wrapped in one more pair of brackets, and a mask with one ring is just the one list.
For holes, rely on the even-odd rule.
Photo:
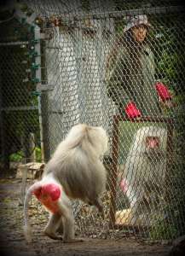
[(31, 240), (28, 224), (28, 202), (32, 194), (50, 212), (44, 232), (60, 239), (56, 231), (63, 228), (64, 241), (74, 239), (74, 217), (70, 199), (80, 199), (94, 205), (103, 215), (100, 195), (106, 186), (106, 170), (100, 157), (107, 151), (107, 134), (101, 127), (75, 125), (66, 139), (56, 148), (45, 166), (41, 181), (34, 183), (26, 193), (25, 235)]

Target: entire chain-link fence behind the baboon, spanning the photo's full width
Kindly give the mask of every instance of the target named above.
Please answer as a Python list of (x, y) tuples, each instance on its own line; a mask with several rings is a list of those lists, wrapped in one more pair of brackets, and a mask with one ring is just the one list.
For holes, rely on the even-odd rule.
[(153, 240), (184, 234), (184, 8), (111, 0), (16, 8), (7, 22), (17, 36), (0, 26), (8, 38), (0, 44), (3, 162), (30, 161), (35, 148), (34, 160), (47, 161), (72, 125), (102, 125), (106, 218), (74, 204), (78, 230)]

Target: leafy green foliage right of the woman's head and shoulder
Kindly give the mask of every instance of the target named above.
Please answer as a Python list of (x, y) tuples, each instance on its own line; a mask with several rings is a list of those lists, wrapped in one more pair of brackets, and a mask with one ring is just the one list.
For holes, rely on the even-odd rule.
[(185, 83), (182, 15), (159, 15), (158, 19), (154, 16), (151, 20), (156, 27), (150, 38), (157, 65), (156, 79), (167, 84), (176, 94), (181, 94)]

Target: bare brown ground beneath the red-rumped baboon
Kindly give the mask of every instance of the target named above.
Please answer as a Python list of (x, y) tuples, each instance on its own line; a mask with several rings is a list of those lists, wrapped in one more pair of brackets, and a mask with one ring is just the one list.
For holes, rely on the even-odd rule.
[(170, 245), (143, 243), (133, 238), (99, 239), (83, 237), (83, 242), (63, 243), (43, 236), (46, 216), (35, 218), (32, 211), (33, 241), (27, 244), (22, 233), (22, 207), (19, 203), (21, 183), (12, 178), (0, 178), (0, 255), (62, 256), (62, 255), (168, 255)]

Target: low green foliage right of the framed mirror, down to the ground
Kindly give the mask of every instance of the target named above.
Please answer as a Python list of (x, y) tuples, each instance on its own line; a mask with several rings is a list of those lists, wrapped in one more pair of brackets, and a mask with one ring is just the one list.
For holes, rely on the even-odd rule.
[[(182, 99), (179, 99), (181, 102)], [(184, 105), (176, 109), (174, 116), (173, 163), (168, 165), (168, 192), (165, 214), (161, 214), (150, 231), (153, 239), (173, 239), (185, 234), (185, 116)], [(165, 215), (165, 218), (164, 216)]]

